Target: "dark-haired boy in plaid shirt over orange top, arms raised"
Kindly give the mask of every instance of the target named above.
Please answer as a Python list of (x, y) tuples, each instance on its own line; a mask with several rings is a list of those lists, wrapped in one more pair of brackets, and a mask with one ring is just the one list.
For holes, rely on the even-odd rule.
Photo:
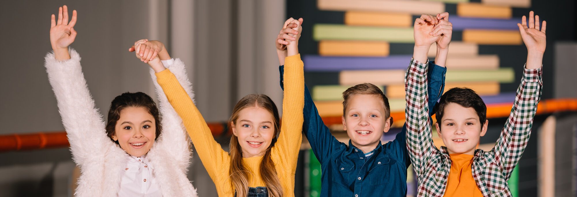
[[(418, 196), (511, 196), (507, 180), (529, 141), (533, 117), (541, 97), (541, 66), (545, 26), (539, 17), (523, 16), (518, 24), (527, 47), (527, 62), (511, 115), (494, 148), (476, 149), (488, 126), (486, 105), (473, 90), (454, 88), (436, 105), (437, 134), (445, 146), (437, 149), (431, 138), (427, 94), (426, 54), (436, 40), (451, 40), (448, 14), (423, 14), (415, 20), (415, 50), (405, 78), (407, 149), (418, 179)], [(438, 51), (437, 51), (438, 52)], [(439, 63), (437, 63), (439, 64)]]

